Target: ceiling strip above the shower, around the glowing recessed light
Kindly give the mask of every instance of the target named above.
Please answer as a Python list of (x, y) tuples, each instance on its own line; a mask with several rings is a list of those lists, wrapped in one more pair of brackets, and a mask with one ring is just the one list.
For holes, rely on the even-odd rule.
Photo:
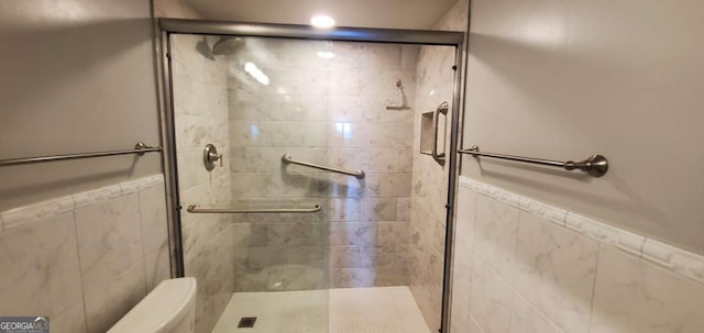
[(430, 29), (457, 0), (186, 0), (206, 19), (309, 24), (328, 14), (338, 26)]

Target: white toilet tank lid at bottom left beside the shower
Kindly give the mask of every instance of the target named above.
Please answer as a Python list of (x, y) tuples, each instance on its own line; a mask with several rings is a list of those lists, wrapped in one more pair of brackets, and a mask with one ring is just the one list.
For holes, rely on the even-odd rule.
[(108, 333), (193, 333), (196, 287), (193, 277), (162, 281)]

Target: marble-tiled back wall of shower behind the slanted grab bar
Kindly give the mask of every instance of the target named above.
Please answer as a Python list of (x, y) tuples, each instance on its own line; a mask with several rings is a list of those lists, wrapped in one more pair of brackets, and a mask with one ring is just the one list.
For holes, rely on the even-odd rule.
[[(408, 284), (414, 111), (385, 107), (399, 103), (400, 79), (413, 108), (417, 55), (404, 45), (245, 38), (229, 57), (234, 206), (322, 207), (233, 217), (243, 233), (238, 291)], [(366, 177), (286, 166), (284, 154)]]

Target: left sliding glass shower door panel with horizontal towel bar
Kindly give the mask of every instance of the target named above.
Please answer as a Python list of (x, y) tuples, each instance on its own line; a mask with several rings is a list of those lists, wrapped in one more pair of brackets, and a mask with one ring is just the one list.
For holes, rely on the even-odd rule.
[[(198, 279), (196, 332), (328, 331), (330, 179), (282, 160), (327, 164), (327, 81), (311, 85), (327, 73), (290, 67), (288, 55), (298, 55), (275, 42), (172, 36), (184, 270)], [(217, 152), (205, 151), (210, 144)]]

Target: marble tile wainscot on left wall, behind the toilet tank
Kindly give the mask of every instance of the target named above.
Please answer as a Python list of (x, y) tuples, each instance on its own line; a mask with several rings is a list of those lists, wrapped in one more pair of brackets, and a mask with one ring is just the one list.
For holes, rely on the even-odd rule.
[(106, 332), (170, 277), (164, 177), (0, 212), (0, 315)]

